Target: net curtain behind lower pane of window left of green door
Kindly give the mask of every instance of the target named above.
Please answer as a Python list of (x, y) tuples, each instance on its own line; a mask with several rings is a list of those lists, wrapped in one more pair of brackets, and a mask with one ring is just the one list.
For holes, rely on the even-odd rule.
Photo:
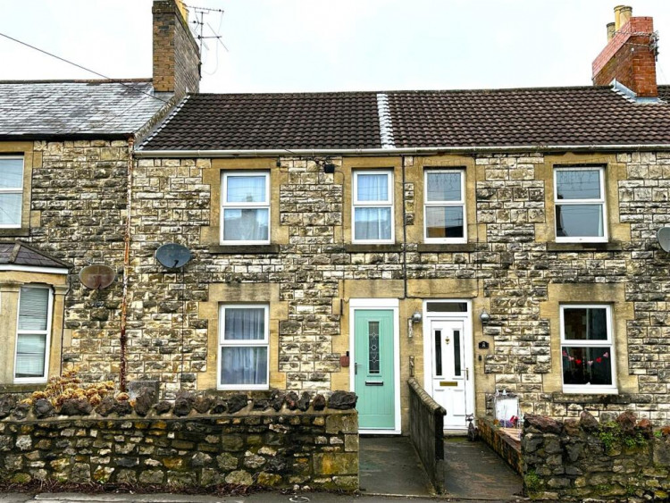
[(221, 363), (222, 384), (266, 384), (267, 348), (224, 346)]

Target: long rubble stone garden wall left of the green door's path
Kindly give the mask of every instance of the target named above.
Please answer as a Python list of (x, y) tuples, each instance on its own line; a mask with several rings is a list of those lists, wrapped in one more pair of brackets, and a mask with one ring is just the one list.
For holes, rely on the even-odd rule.
[(358, 489), (351, 394), (150, 398), (0, 398), (0, 482)]

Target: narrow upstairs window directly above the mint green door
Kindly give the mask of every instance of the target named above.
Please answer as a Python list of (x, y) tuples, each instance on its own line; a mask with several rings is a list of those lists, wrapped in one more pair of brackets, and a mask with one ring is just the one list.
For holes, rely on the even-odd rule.
[(354, 172), (355, 243), (392, 243), (393, 172)]

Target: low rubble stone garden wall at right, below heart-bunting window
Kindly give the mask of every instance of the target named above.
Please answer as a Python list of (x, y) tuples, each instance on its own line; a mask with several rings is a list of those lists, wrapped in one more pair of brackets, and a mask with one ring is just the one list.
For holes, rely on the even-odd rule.
[(527, 415), (521, 455), (532, 499), (658, 500), (670, 496), (670, 428), (653, 432), (625, 412), (599, 423), (589, 413), (559, 422)]

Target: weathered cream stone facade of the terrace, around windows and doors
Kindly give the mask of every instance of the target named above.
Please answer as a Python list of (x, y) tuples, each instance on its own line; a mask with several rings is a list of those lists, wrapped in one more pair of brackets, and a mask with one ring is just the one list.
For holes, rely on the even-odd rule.
[[(30, 240), (75, 265), (121, 271), (126, 215), (126, 142), (34, 145)], [(667, 153), (344, 157), (336, 171), (282, 158), (135, 161), (129, 273), (129, 381), (158, 380), (163, 394), (216, 387), (222, 302), (270, 304), (272, 389), (347, 390), (348, 299), (400, 298), (400, 381), (424, 373), (421, 324), (406, 320), (430, 298), (472, 302), (476, 408), (496, 389), (515, 391), (524, 413), (577, 416), (632, 409), (667, 420), (664, 368), (670, 259), (656, 231), (670, 220)], [(609, 241), (554, 239), (555, 166), (605, 166)], [(468, 242), (423, 243), (423, 170), (466, 173)], [(396, 244), (351, 244), (351, 172), (392, 169)], [(272, 242), (219, 245), (221, 173), (271, 172)], [(403, 185), (401, 180), (405, 180)], [(403, 225), (406, 222), (406, 225)], [(403, 239), (406, 237), (406, 244)], [(179, 242), (194, 255), (182, 271), (155, 261)], [(613, 310), (616, 395), (562, 391), (558, 309), (563, 302)], [(121, 285), (101, 292), (71, 278), (64, 360), (89, 380), (118, 373)], [(485, 308), (491, 321), (478, 314)], [(490, 348), (478, 349), (480, 342)], [(481, 360), (479, 358), (481, 356)], [(412, 362), (410, 361), (412, 358)], [(401, 388), (406, 428), (406, 387)]]

